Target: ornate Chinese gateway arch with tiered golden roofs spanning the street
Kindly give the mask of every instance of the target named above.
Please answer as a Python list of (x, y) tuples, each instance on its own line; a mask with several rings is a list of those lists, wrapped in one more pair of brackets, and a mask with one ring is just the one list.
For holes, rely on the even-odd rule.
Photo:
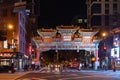
[(97, 29), (80, 29), (79, 26), (57, 26), (56, 29), (38, 29), (39, 36), (33, 41), (37, 46), (37, 60), (39, 54), (48, 50), (87, 50), (96, 57), (95, 69), (98, 64), (98, 45), (100, 39), (95, 37)]

